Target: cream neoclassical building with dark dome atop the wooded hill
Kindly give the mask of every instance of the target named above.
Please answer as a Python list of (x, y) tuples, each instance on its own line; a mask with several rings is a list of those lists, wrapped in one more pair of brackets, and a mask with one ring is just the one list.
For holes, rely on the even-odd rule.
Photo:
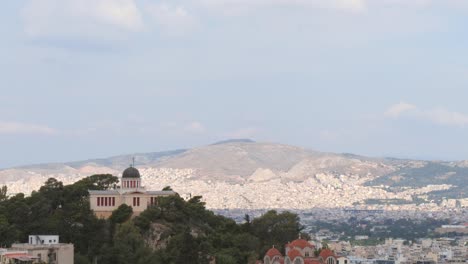
[(114, 189), (95, 191), (89, 190), (91, 210), (99, 218), (108, 218), (112, 211), (122, 204), (133, 208), (134, 215), (138, 215), (149, 205), (155, 204), (158, 197), (175, 195), (174, 191), (147, 191), (141, 184), (140, 172), (130, 166), (122, 173), (121, 185)]

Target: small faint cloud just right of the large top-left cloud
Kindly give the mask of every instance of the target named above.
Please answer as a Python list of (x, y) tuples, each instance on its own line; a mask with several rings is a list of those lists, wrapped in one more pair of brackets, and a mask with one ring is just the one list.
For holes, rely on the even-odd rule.
[(166, 35), (185, 35), (199, 26), (199, 21), (182, 5), (152, 3), (145, 10)]

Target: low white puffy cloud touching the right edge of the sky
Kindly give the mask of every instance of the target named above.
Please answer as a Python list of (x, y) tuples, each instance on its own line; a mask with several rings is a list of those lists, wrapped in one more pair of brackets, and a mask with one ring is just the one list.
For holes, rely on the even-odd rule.
[(468, 125), (468, 115), (449, 111), (443, 107), (433, 109), (420, 109), (419, 107), (400, 102), (391, 106), (384, 115), (393, 119), (414, 119), (424, 120), (437, 125), (444, 126), (465, 126)]

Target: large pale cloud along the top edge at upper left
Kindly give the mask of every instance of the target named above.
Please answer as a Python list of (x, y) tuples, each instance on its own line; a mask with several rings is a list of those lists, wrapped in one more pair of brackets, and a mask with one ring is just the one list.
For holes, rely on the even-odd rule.
[(144, 27), (134, 0), (29, 0), (21, 16), (31, 37), (95, 37)]

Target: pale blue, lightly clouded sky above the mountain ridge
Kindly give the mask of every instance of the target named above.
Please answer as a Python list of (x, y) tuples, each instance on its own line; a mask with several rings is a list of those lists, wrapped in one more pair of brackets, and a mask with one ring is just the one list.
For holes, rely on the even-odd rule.
[(0, 168), (229, 138), (468, 159), (465, 0), (0, 5)]

